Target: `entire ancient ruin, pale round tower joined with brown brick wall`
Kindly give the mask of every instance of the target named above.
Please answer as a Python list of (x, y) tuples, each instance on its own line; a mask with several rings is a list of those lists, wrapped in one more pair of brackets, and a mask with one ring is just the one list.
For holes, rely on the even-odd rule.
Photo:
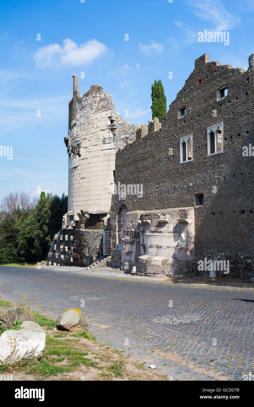
[(73, 76), (68, 212), (49, 265), (87, 266), (104, 244), (126, 273), (209, 275), (199, 262), (224, 260), (217, 275), (254, 276), (253, 60), (245, 72), (202, 55), (162, 123), (141, 126), (100, 86), (80, 97)]

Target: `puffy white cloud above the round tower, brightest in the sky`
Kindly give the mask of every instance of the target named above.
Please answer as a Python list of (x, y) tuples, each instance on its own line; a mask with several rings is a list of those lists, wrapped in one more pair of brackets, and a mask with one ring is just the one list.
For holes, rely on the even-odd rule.
[(33, 56), (37, 68), (60, 68), (63, 65), (88, 65), (107, 50), (106, 45), (96, 39), (77, 46), (71, 39), (63, 41), (63, 46), (50, 44), (40, 48)]

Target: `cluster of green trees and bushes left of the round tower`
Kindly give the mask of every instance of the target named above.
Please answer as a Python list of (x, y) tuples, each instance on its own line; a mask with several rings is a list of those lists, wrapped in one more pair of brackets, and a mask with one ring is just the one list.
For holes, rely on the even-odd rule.
[(24, 191), (9, 193), (0, 205), (0, 264), (46, 258), (54, 234), (62, 227), (68, 197)]

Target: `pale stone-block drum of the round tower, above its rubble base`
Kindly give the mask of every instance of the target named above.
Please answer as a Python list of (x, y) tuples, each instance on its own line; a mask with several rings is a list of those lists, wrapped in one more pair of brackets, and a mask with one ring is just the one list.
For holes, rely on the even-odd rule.
[(117, 142), (115, 106), (101, 86), (91, 86), (79, 98), (74, 75), (73, 100), (69, 104), (68, 211), (110, 210)]

